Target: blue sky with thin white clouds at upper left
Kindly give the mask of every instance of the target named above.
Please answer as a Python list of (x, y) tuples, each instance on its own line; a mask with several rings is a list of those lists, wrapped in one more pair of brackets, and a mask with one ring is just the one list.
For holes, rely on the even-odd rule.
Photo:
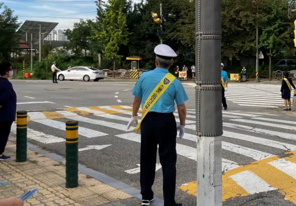
[[(59, 23), (56, 29), (61, 30), (73, 29), (74, 22), (79, 22), (79, 19), (96, 19), (97, 5), (94, 1), (96, 0), (0, 0), (14, 10), (13, 15), (18, 16), (20, 22), (24, 23), (26, 20), (56, 22)], [(140, 2), (140, 0), (133, 1)], [(2, 10), (3, 7), (0, 12)]]

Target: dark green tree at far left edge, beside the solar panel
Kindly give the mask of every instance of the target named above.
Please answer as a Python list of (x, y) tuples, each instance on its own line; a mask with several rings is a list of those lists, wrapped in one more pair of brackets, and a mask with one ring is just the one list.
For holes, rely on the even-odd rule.
[[(0, 9), (3, 3), (0, 3)], [(19, 44), (16, 38), (16, 30), (21, 23), (18, 23), (18, 17), (13, 16), (13, 10), (4, 6), (0, 13), (0, 60), (9, 60), (10, 53)]]

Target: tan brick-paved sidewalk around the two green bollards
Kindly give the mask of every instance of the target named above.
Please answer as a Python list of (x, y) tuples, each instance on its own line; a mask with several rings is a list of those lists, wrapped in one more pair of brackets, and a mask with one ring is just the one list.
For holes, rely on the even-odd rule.
[(27, 162), (17, 163), (16, 145), (8, 141), (0, 161), (0, 199), (20, 197), (29, 189), (39, 187), (25, 206), (140, 206), (141, 201), (91, 176), (78, 173), (79, 186), (65, 188), (64, 162), (56, 162), (28, 149)]

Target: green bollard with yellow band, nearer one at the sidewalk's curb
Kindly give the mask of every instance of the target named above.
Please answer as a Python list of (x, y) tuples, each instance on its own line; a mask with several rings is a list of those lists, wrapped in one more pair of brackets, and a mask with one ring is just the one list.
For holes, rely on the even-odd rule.
[(66, 187), (78, 186), (78, 122), (66, 122)]

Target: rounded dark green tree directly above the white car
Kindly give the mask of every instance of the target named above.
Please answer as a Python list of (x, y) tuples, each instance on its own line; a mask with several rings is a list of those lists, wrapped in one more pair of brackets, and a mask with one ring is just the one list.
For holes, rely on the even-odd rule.
[(84, 56), (86, 56), (86, 51), (89, 50), (90, 32), (91, 20), (83, 21), (83, 19), (80, 19), (80, 22), (74, 23), (73, 30), (65, 30), (69, 40), (65, 43), (65, 48), (71, 49), (76, 55), (80, 55), (84, 51)]

